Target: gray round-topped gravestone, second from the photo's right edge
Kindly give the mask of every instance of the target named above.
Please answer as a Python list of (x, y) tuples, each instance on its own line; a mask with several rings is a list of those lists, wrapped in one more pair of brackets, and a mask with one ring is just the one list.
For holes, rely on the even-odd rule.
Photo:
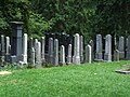
[(123, 37), (119, 37), (118, 51), (119, 51), (119, 59), (125, 59), (125, 39), (123, 39)]

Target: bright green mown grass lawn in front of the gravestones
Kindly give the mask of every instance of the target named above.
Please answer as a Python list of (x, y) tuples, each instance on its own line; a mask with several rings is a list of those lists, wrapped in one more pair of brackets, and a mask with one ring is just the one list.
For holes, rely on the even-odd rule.
[(130, 61), (9, 70), (0, 75), (0, 97), (129, 97), (130, 74), (114, 70)]

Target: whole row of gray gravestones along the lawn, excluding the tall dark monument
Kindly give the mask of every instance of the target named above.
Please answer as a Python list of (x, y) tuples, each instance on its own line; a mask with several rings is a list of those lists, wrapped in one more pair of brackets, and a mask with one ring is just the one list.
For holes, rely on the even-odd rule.
[[(4, 41), (5, 39), (5, 41)], [(105, 53), (104, 53), (104, 59), (103, 59), (103, 43), (102, 43), (102, 36), (96, 36), (96, 51), (94, 54), (94, 42), (91, 40), (90, 43), (86, 46), (83, 50), (83, 38), (82, 36), (79, 36), (78, 33), (75, 34), (74, 38), (74, 45), (68, 45), (68, 52), (67, 52), (67, 60), (65, 59), (65, 47), (64, 45), (61, 45), (58, 50), (58, 40), (53, 38), (49, 38), (49, 48), (48, 54), (44, 53), (44, 37), (42, 37), (41, 41), (38, 41), (37, 39), (30, 38), (29, 42), (29, 53), (28, 51), (28, 36), (27, 33), (24, 33), (23, 36), (23, 48), (22, 54), (18, 59), (18, 64), (27, 64), (30, 63), (36, 68), (40, 68), (42, 63), (48, 63), (53, 66), (58, 65), (66, 65), (66, 64), (75, 64), (80, 65), (82, 63), (91, 63), (93, 60), (95, 61), (112, 61), (112, 36), (107, 34), (105, 37)], [(128, 37), (127, 42), (127, 57), (125, 58), (125, 39), (123, 37), (119, 38), (118, 48), (115, 51), (115, 59), (130, 59), (130, 36)], [(15, 63), (16, 55), (11, 54), (11, 44), (10, 44), (10, 38), (4, 36), (1, 36), (0, 41), (0, 66), (3, 66), (4, 60), (8, 63)], [(13, 45), (14, 46), (14, 45)], [(74, 50), (72, 48), (74, 46)], [(60, 52), (58, 52), (60, 51)], [(18, 51), (16, 51), (18, 52)], [(72, 55), (72, 52), (74, 52), (74, 55)], [(94, 56), (95, 55), (95, 56)], [(29, 57), (29, 59), (28, 59)], [(60, 58), (60, 59), (58, 59)]]

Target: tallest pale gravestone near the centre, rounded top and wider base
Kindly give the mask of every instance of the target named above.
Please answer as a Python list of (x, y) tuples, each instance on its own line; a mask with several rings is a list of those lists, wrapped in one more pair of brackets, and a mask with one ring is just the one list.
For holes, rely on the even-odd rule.
[(73, 57), (73, 63), (75, 65), (80, 65), (80, 39), (79, 39), (79, 34), (76, 33), (75, 34), (75, 41), (74, 41), (74, 57)]

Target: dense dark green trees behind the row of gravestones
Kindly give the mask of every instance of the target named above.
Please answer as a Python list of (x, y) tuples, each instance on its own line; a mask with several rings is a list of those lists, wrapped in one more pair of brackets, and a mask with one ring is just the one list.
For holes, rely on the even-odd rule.
[(44, 32), (80, 33), (86, 40), (96, 33), (130, 33), (130, 0), (2, 0), (0, 33), (10, 33), (10, 22), (23, 20), (31, 37)]

